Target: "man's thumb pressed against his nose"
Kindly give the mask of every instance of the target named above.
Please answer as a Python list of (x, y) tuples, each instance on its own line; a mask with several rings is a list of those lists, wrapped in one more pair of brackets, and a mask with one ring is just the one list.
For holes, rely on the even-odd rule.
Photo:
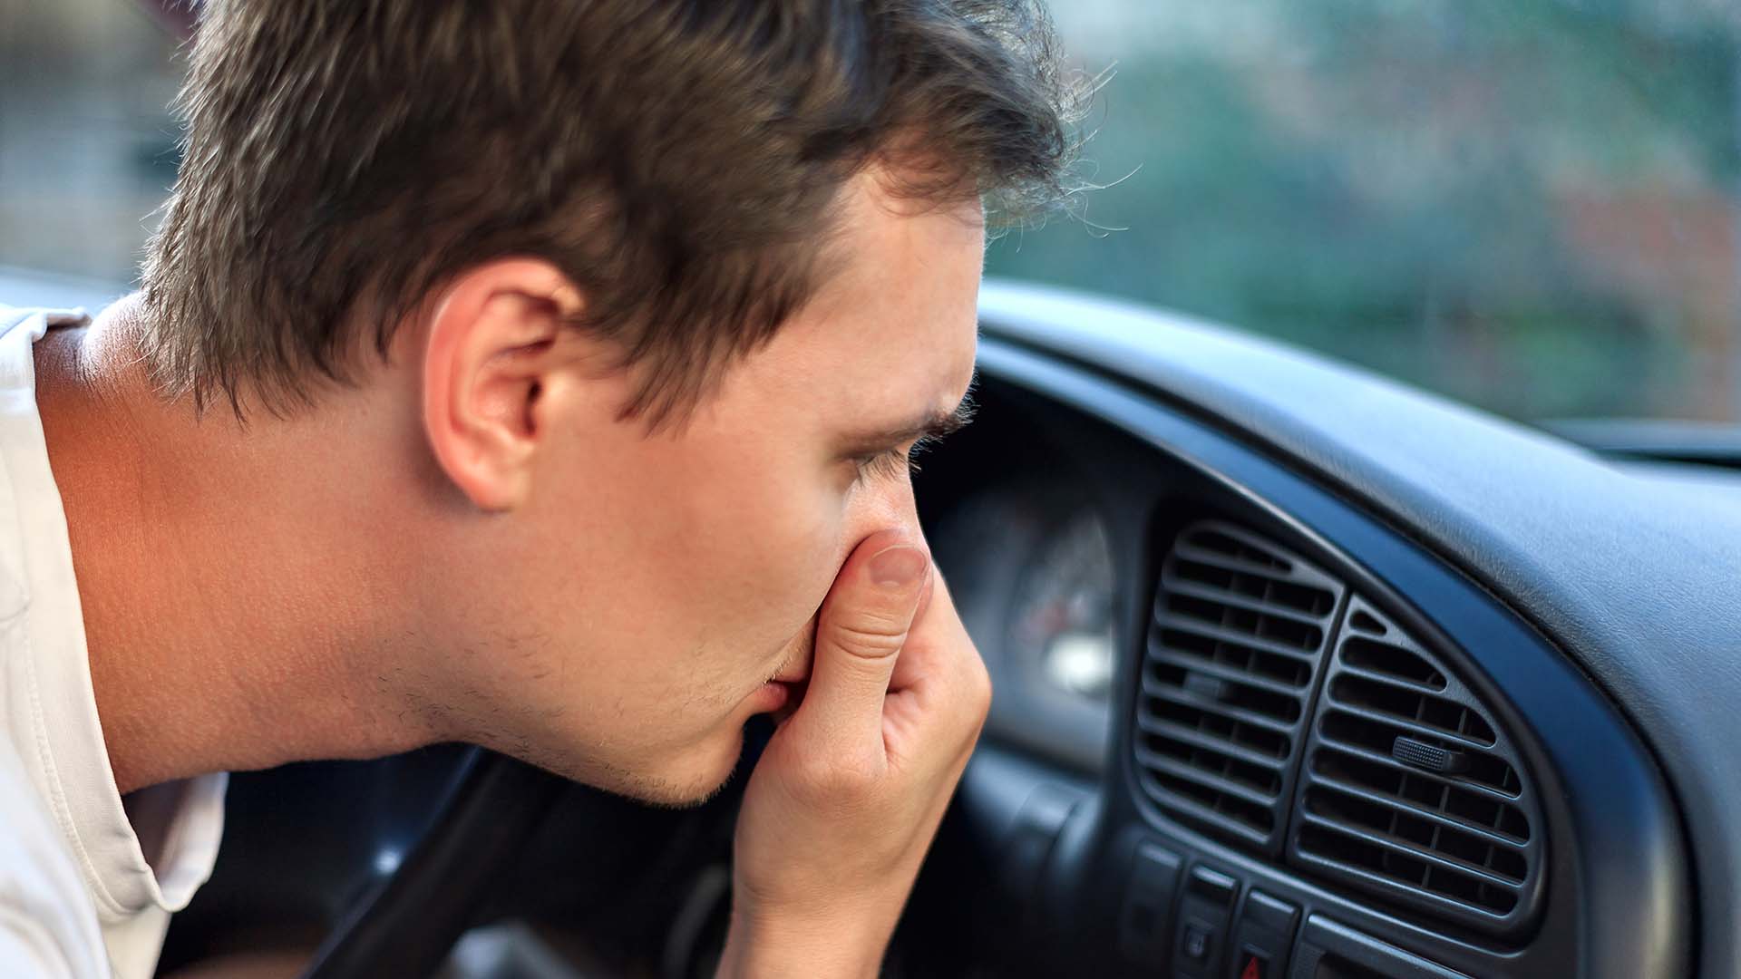
[(817, 617), (817, 658), (804, 709), (830, 732), (881, 732), (883, 697), (907, 643), (931, 557), (888, 533), (865, 538), (834, 580)]

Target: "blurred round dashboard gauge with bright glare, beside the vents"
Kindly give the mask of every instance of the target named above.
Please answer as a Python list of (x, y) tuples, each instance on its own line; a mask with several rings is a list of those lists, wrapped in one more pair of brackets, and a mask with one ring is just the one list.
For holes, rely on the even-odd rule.
[(1078, 512), (1046, 535), (1010, 610), (1010, 653), (1053, 690), (1104, 706), (1112, 686), (1112, 554)]

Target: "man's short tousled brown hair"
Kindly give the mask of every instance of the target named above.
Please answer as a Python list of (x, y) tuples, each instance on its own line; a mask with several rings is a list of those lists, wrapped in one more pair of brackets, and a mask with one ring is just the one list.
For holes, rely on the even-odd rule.
[(1029, 216), (1081, 91), (1032, 0), (211, 0), (146, 364), (282, 413), (444, 280), (538, 256), (656, 422), (811, 294), (851, 174)]

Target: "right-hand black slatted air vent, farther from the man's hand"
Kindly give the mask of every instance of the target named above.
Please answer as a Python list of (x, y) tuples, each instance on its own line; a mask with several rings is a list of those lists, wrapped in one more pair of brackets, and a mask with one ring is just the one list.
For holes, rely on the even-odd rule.
[(1455, 672), (1363, 598), (1330, 660), (1288, 857), (1506, 934), (1539, 892), (1541, 815), (1522, 761)]

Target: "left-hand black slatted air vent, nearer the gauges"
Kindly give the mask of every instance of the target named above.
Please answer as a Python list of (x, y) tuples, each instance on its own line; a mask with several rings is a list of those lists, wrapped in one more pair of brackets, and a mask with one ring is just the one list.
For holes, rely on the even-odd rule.
[(1220, 521), (1161, 566), (1137, 699), (1142, 791), (1170, 815), (1281, 852), (1313, 679), (1342, 584)]

